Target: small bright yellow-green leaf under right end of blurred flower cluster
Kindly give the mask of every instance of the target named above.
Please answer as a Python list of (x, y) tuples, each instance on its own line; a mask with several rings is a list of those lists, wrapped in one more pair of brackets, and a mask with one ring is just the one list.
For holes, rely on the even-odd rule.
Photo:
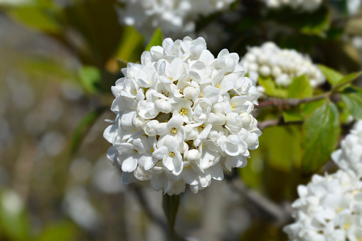
[(313, 88), (310, 85), (310, 80), (307, 75), (301, 75), (294, 78), (292, 84), (289, 86), (288, 97), (304, 99), (307, 97), (312, 97)]

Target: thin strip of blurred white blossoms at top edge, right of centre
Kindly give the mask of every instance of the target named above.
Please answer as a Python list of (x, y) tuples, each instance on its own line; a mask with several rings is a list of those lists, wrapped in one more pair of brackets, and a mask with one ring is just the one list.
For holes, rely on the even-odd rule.
[(263, 0), (268, 8), (279, 9), (282, 6), (290, 6), (292, 9), (302, 11), (314, 11), (321, 6), (323, 0)]

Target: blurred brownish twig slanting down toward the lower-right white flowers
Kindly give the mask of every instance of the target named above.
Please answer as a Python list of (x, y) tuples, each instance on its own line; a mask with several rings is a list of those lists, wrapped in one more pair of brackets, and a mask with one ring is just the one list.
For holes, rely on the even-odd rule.
[(232, 178), (229, 181), (233, 188), (235, 188), (241, 195), (245, 196), (245, 198), (250, 200), (251, 203), (257, 205), (260, 210), (272, 216), (277, 225), (283, 225), (291, 218), (291, 213), (287, 208), (282, 208), (280, 205), (277, 205), (272, 202), (272, 200), (262, 196), (260, 193), (247, 188), (240, 178)]

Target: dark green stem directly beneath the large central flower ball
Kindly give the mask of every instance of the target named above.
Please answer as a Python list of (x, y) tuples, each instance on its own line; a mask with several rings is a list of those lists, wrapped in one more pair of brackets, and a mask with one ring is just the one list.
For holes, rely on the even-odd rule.
[(164, 213), (166, 215), (167, 223), (171, 234), (174, 234), (174, 226), (176, 221), (177, 210), (179, 209), (180, 196), (173, 195), (169, 196), (168, 194), (164, 195), (162, 201), (162, 207), (164, 208)]

